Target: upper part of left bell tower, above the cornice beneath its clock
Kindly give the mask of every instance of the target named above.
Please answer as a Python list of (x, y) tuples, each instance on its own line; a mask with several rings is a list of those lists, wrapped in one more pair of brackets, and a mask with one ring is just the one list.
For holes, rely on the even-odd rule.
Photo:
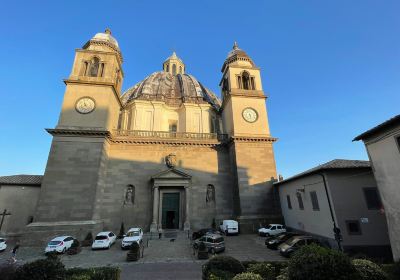
[(111, 31), (77, 49), (57, 128), (117, 128), (123, 80), (122, 55)]

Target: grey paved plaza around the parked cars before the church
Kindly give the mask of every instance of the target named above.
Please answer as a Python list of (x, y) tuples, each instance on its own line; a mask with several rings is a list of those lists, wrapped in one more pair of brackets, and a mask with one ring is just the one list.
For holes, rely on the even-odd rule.
[[(167, 235), (168, 236), (168, 235)], [(265, 238), (254, 234), (225, 237), (226, 250), (219, 255), (228, 255), (244, 260), (279, 261), (285, 260), (277, 251), (269, 250), (264, 245)], [(131, 273), (142, 275), (138, 279), (196, 279), (201, 276), (201, 265), (205, 261), (197, 260), (191, 241), (180, 233), (162, 239), (145, 236), (143, 258), (137, 262), (127, 262), (127, 251), (121, 250), (120, 240), (110, 250), (92, 251), (90, 247), (82, 248), (77, 255), (60, 255), (66, 267), (94, 267), (116, 265), (122, 268), (122, 279), (130, 279)], [(0, 264), (10, 257), (12, 246), (0, 253)], [(44, 258), (44, 248), (21, 247), (17, 254), (20, 264)], [(179, 265), (176, 265), (179, 263)], [(157, 267), (157, 269), (154, 269)], [(173, 271), (163, 274), (162, 271)], [(145, 276), (147, 275), (147, 276)], [(197, 275), (197, 276), (196, 276)], [(158, 278), (161, 277), (161, 278)], [(164, 277), (164, 278), (162, 278)], [(171, 277), (171, 278), (168, 278)], [(183, 277), (183, 278), (182, 278)]]

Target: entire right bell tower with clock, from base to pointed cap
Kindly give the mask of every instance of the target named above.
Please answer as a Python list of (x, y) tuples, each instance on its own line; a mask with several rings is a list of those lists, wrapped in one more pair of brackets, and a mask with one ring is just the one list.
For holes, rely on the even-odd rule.
[(242, 229), (280, 217), (276, 166), (260, 68), (235, 42), (222, 69), (222, 118), (230, 136), (235, 211)]

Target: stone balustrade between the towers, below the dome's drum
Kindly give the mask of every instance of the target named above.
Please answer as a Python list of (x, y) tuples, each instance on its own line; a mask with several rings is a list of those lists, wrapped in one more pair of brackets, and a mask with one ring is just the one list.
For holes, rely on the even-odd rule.
[(158, 138), (158, 139), (181, 139), (181, 140), (218, 140), (226, 141), (227, 134), (220, 133), (192, 133), (192, 132), (170, 132), (170, 131), (148, 131), (148, 130), (121, 130), (113, 131), (114, 136), (128, 136), (134, 138)]

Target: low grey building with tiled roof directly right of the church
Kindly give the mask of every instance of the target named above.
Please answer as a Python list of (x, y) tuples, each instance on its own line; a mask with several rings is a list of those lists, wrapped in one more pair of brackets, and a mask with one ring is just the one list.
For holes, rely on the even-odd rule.
[(390, 256), (386, 219), (369, 161), (332, 160), (275, 186), (288, 228), (337, 248), (336, 227), (345, 251)]

